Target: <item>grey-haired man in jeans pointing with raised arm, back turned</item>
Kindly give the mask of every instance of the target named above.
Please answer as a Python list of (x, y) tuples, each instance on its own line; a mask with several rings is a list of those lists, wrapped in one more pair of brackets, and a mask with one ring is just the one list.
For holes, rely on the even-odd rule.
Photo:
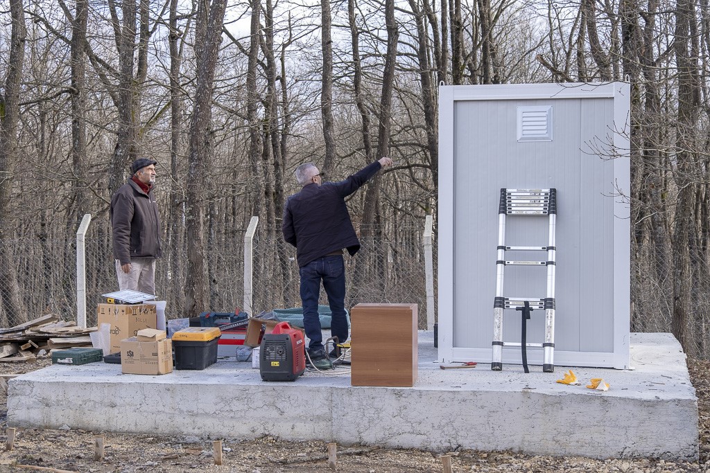
[(301, 277), (303, 325), (310, 339), (308, 355), (313, 366), (332, 368), (323, 347), (318, 299), (323, 284), (332, 312), (331, 334), (339, 342), (348, 338), (345, 311), (345, 265), (343, 249), (354, 255), (360, 249), (345, 197), (362, 187), (380, 169), (392, 165), (383, 157), (340, 182), (322, 182), (322, 173), (307, 162), (296, 168), (303, 188), (288, 198), (283, 209), (283, 238), (296, 247)]

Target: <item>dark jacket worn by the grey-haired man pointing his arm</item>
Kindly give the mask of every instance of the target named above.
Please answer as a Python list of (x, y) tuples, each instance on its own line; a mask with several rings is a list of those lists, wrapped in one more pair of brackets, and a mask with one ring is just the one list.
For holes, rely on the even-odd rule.
[(360, 189), (381, 167), (376, 161), (344, 181), (307, 184), (288, 198), (281, 230), (283, 238), (296, 247), (299, 267), (342, 248), (350, 255), (360, 249), (345, 197)]

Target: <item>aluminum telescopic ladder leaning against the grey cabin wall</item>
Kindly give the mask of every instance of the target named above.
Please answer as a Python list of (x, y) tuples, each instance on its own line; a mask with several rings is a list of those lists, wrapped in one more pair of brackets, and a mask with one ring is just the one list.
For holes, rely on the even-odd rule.
[[(542, 347), (544, 362), (542, 371), (555, 371), (555, 218), (557, 216), (556, 189), (501, 189), (498, 206), (498, 260), (496, 261), (496, 301), (493, 304), (493, 360), (491, 369), (503, 369), (503, 347), (520, 347), (523, 368), (528, 369), (528, 347)], [(506, 246), (506, 216), (547, 216), (549, 230), (547, 246)], [(546, 261), (506, 260), (506, 251), (545, 251)], [(542, 297), (503, 296), (503, 276), (506, 266), (547, 267), (547, 295)], [(514, 309), (523, 313), (520, 343), (503, 342), (503, 311)], [(527, 343), (526, 326), (533, 310), (545, 310), (544, 343)]]

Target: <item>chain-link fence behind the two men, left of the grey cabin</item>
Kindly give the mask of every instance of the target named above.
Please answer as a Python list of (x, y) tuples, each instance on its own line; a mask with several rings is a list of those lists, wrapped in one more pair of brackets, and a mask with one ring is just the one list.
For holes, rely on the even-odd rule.
[[(345, 255), (346, 307), (361, 302), (415, 303), (419, 325), (426, 328), (426, 273), (422, 243), (424, 228), (398, 228), (397, 238), (361, 238), (361, 250)], [(209, 307), (231, 312), (244, 304), (244, 230), (207, 239), (205, 262)], [(404, 235), (404, 236), (403, 236)], [(87, 325), (97, 323), (96, 306), (102, 294), (118, 289), (109, 229), (97, 223), (84, 238)], [(0, 326), (17, 325), (46, 313), (63, 320), (77, 317), (76, 235), (53, 239), (22, 238), (0, 242), (0, 257), (8, 266), (0, 272)], [(155, 287), (167, 301), (168, 318), (185, 316), (185, 281), (189, 242), (180, 238), (163, 244)], [(253, 238), (252, 313), (300, 306), (295, 249), (283, 241), (280, 229), (257, 228)], [(432, 247), (436, 284), (436, 245)], [(436, 288), (435, 288), (436, 294)], [(14, 298), (14, 299), (13, 299)], [(322, 292), (321, 304), (327, 304)], [(198, 314), (190, 314), (196, 316)]]

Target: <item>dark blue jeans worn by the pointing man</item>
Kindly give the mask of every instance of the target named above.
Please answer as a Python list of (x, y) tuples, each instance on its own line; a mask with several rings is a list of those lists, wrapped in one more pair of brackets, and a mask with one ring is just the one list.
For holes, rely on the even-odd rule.
[(345, 312), (345, 263), (342, 255), (320, 257), (300, 268), (299, 272), (303, 328), (310, 339), (309, 350), (323, 348), (320, 315), (318, 315), (321, 282), (332, 312), (330, 333), (343, 343), (348, 339), (348, 319)]

